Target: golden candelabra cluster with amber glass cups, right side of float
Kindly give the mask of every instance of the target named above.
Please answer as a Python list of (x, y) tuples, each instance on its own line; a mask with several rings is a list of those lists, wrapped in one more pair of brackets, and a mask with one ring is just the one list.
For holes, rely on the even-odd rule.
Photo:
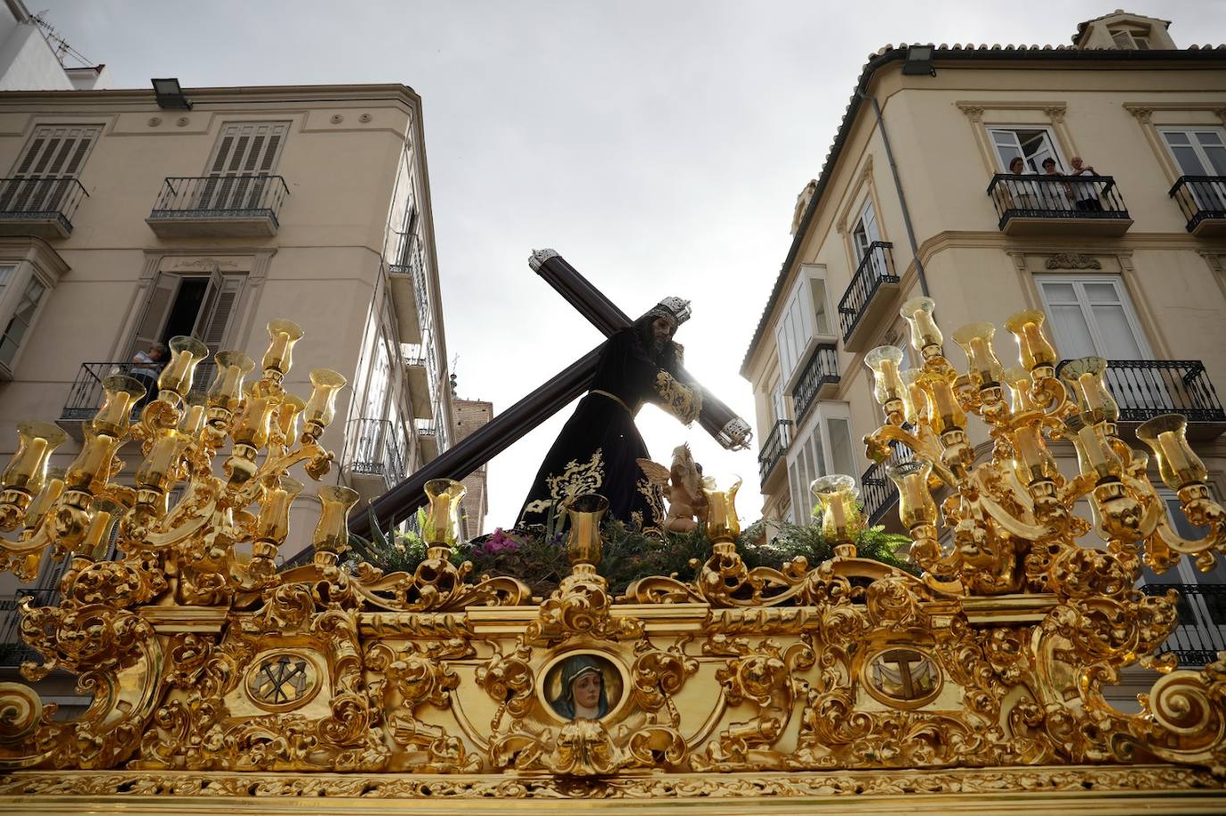
[[(890, 444), (913, 458), (886, 467), (897, 485), (899, 516), (911, 534), (911, 559), (935, 578), (958, 581), (969, 594), (1132, 591), (1141, 560), (1155, 571), (1181, 555), (1213, 569), (1226, 551), (1226, 515), (1209, 496), (1205, 468), (1188, 446), (1186, 420), (1156, 417), (1137, 429), (1157, 461), (1162, 482), (1179, 497), (1188, 521), (1208, 528), (1197, 540), (1179, 537), (1148, 478), (1149, 456), (1118, 434), (1119, 407), (1103, 381), (1106, 360), (1089, 357), (1057, 370), (1056, 349), (1043, 331), (1043, 312), (1020, 311), (1005, 327), (1016, 338), (1019, 368), (1005, 369), (993, 350), (994, 327), (962, 326), (953, 339), (965, 352), (959, 374), (945, 357), (935, 303), (902, 304), (918, 352), (918, 369), (900, 370), (901, 350), (866, 354), (874, 397), (885, 424), (864, 437), (868, 455), (884, 462)], [(1007, 393), (1010, 397), (1007, 401)], [(978, 417), (992, 441), (977, 461), (967, 418)], [(1062, 474), (1049, 445), (1070, 442), (1078, 473)], [(940, 512), (934, 493), (944, 493)], [(1089, 500), (1092, 521), (1074, 515)], [(946, 543), (938, 515), (948, 528)], [(1090, 531), (1105, 549), (1078, 543)]]

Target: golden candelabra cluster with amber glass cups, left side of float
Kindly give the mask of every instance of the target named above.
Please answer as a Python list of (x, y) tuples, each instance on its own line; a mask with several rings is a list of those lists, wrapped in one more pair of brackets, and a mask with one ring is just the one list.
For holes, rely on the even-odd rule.
[[(346, 383), (336, 371), (316, 369), (309, 399), (284, 390), (302, 336), (297, 323), (271, 321), (261, 376), (248, 387), (251, 358), (219, 352), (216, 379), (199, 402), (191, 386), (208, 352), (195, 338), (172, 338), (156, 398), (140, 410), (146, 396), (141, 382), (123, 375), (103, 380), (102, 407), (85, 423), (81, 452), (63, 475), (49, 475), (48, 461), (66, 441), (64, 431), (22, 423), (17, 452), (0, 475), (0, 529), (20, 531), (0, 538), (4, 566), (31, 578), (50, 549), (70, 561), (64, 588), (82, 584), (85, 592), (83, 584), (105, 584), (130, 594), (132, 603), (169, 591), (177, 603), (211, 604), (275, 583), (289, 506), (303, 490), (287, 472), (302, 463), (313, 479), (327, 473), (332, 453), (319, 439)], [(227, 440), (229, 452), (218, 472), (215, 458)], [(123, 484), (116, 479), (124, 467), (120, 451), (129, 444), (139, 445), (143, 458), (130, 484)], [(181, 497), (172, 507), (180, 485)], [(357, 497), (349, 494), (320, 489), (320, 565), (335, 566), (346, 546), (345, 516)], [(119, 560), (91, 569), (112, 534)]]

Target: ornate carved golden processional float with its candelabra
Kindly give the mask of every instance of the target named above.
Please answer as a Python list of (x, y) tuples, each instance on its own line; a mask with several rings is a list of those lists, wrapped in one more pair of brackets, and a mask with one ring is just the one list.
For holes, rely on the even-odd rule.
[[(314, 562), (278, 572), (303, 489), (287, 472), (327, 472), (318, 440), (345, 381), (318, 369), (309, 399), (287, 393), (302, 332), (273, 321), (259, 380), (244, 388), (253, 360), (219, 353), (207, 404), (188, 406), (205, 348), (177, 338), (139, 421), (141, 386), (107, 380), (63, 479), (47, 477), (63, 434), (20, 428), (4, 565), (29, 578), (44, 550), (69, 560), (59, 604), (23, 609), (43, 662), (22, 673), (74, 671), (93, 702), (60, 722), (31, 687), (0, 686), (0, 809), (1221, 812), (1226, 654), (1203, 671), (1155, 657), (1176, 594), (1135, 588), (1143, 561), (1209, 569), (1226, 551), (1183, 418), (1145, 423), (1151, 455), (1134, 450), (1102, 360), (1057, 376), (1041, 312), (1008, 322), (1020, 369), (1003, 370), (991, 325), (958, 331), (960, 375), (932, 311), (904, 306), (921, 369), (900, 372), (897, 349), (868, 357), (886, 419), (869, 455), (915, 453), (890, 475), (921, 577), (857, 557), (853, 483), (828, 477), (814, 491), (834, 559), (748, 569), (732, 485), (709, 494), (714, 554), (693, 582), (645, 578), (617, 597), (595, 566), (601, 496), (570, 500), (571, 572), (533, 598), (452, 565), (462, 486), (447, 480), (428, 485), (414, 573), (342, 564), (356, 494), (337, 486), (318, 489)], [(991, 435), (986, 461), (969, 414)], [(143, 453), (135, 486), (115, 482), (128, 440)], [(1074, 478), (1056, 440), (1076, 448)], [(1151, 456), (1203, 539), (1173, 532)], [(94, 560), (113, 526), (119, 556)], [(1103, 546), (1081, 542), (1091, 532)], [(1138, 663), (1162, 676), (1122, 713), (1102, 689)]]

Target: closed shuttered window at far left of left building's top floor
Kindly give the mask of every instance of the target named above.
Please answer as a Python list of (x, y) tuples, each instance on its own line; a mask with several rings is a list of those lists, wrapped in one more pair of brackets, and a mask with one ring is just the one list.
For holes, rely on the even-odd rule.
[(67, 183), (55, 180), (77, 178), (101, 132), (101, 125), (36, 127), (29, 145), (12, 168), (11, 176), (15, 180), (2, 185), (0, 190), (0, 211), (56, 211), (69, 194), (69, 187)]

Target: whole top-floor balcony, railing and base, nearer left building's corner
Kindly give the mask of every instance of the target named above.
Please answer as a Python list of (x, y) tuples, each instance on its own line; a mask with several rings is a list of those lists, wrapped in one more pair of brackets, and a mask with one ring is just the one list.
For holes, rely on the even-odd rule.
[(276, 235), (288, 195), (280, 175), (168, 178), (145, 223), (159, 238)]

